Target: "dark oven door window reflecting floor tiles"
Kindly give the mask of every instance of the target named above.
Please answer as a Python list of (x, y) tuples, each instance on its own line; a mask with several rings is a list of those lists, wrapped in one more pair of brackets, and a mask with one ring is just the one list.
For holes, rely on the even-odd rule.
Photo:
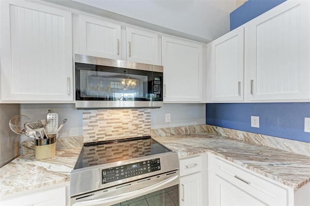
[(113, 206), (178, 206), (179, 186), (171, 186)]

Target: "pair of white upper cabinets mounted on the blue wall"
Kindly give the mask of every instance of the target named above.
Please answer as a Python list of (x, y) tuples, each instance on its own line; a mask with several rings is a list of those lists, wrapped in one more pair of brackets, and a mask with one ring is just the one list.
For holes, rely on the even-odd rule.
[(208, 44), (208, 102), (309, 102), (309, 22), (310, 1), (287, 0)]

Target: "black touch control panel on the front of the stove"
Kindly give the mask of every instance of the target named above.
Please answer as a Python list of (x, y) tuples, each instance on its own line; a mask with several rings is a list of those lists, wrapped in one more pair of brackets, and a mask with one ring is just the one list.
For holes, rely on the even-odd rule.
[(101, 184), (161, 170), (160, 159), (135, 162), (101, 170)]

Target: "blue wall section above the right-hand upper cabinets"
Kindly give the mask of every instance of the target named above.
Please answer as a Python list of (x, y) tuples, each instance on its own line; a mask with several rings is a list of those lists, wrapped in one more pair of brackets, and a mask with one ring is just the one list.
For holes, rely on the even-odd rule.
[(247, 23), (286, 0), (248, 0), (234, 10), (231, 15), (231, 30)]

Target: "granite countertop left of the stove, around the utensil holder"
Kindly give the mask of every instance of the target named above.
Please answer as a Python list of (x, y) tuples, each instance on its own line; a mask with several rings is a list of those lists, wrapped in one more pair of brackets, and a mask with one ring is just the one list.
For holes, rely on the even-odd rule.
[[(82, 137), (59, 138), (56, 155), (44, 160), (34, 158), (33, 141), (26, 153), (0, 168), (0, 199), (23, 191), (69, 182), (81, 151)], [(74, 142), (75, 144), (72, 144)], [(63, 143), (63, 144), (62, 144)], [(25, 147), (24, 145), (24, 147)]]

